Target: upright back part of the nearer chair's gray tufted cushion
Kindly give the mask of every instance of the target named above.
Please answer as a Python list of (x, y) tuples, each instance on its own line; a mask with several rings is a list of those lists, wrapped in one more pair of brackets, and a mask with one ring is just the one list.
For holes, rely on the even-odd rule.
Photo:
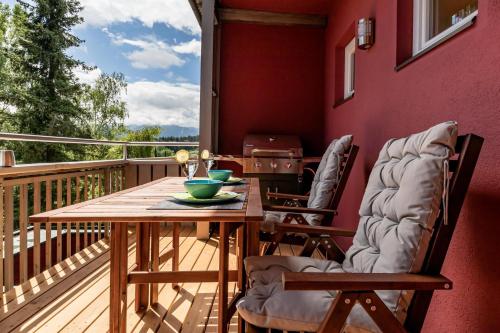
[[(384, 145), (368, 179), (353, 244), (342, 263), (346, 272), (421, 271), (457, 132), (455, 122), (445, 122)], [(403, 322), (413, 293), (377, 294)]]

